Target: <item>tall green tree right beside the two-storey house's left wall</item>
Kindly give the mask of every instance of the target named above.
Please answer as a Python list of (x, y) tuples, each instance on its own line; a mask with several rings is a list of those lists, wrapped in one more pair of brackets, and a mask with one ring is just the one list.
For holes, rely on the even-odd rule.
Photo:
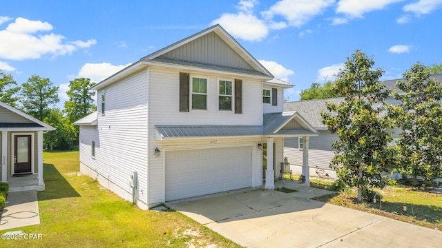
[(97, 110), (93, 99), (95, 92), (89, 90), (93, 85), (95, 83), (91, 83), (90, 79), (84, 78), (74, 79), (69, 82), (69, 90), (66, 92), (69, 96), (69, 101), (64, 103), (64, 109), (71, 122), (75, 122)]

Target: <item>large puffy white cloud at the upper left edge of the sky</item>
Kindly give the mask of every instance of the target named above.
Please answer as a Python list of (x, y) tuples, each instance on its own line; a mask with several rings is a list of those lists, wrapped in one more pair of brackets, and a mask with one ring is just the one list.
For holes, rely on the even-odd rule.
[[(17, 18), (5, 30), (0, 30), (0, 59), (39, 59), (44, 54), (52, 56), (70, 54), (79, 48), (88, 48), (97, 41), (71, 41), (63, 43), (61, 34), (41, 34), (52, 30), (47, 22)], [(37, 33), (37, 34), (35, 34)]]

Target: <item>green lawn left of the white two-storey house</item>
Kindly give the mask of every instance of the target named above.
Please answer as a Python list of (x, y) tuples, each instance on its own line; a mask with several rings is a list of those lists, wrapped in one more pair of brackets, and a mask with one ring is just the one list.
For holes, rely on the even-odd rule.
[(77, 175), (78, 156), (44, 153), (46, 190), (38, 192), (41, 224), (7, 230), (41, 234), (43, 239), (1, 241), (1, 247), (239, 247), (176, 211), (143, 211)]

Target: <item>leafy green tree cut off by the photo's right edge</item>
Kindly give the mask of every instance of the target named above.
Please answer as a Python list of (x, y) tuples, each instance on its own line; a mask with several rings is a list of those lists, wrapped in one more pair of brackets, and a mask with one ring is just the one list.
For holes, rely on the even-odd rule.
[(442, 172), (442, 82), (430, 79), (430, 71), (416, 63), (396, 83), (405, 92), (393, 92), (397, 107), (388, 106), (403, 132), (396, 143), (401, 172), (433, 180)]

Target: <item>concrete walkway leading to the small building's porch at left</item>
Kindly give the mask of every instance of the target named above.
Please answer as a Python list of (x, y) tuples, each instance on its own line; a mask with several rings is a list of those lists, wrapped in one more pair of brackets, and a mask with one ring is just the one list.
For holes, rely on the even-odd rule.
[(37, 191), (9, 192), (0, 219), (0, 230), (40, 224)]

